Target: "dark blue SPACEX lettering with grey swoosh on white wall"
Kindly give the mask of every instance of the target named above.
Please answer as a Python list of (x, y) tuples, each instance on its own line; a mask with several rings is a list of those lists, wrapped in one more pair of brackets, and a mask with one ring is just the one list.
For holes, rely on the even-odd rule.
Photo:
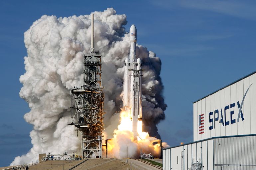
[[(230, 124), (237, 123), (237, 122), (239, 122), (240, 117), (241, 117), (242, 121), (244, 121), (244, 115), (243, 115), (243, 112), (242, 112), (242, 107), (243, 107), (245, 96), (246, 96), (248, 90), (250, 89), (251, 85), (248, 87), (248, 89), (244, 93), (244, 96), (243, 96), (243, 99), (242, 99), (241, 103), (239, 101), (237, 101), (236, 103), (232, 103), (230, 105), (225, 106), (224, 109), (220, 108), (220, 111), (217, 109), (217, 110), (214, 110), (214, 113), (213, 112), (209, 113), (209, 122), (210, 122), (209, 130), (212, 130), (213, 128), (215, 128), (214, 127), (215, 123), (213, 121), (217, 122), (219, 120), (219, 123), (221, 123), (222, 126), (228, 126)], [(233, 108), (233, 107), (236, 107), (236, 106), (239, 109), (238, 115), (237, 115), (237, 120), (234, 117), (234, 111), (230, 111), (230, 113), (228, 113), (226, 111), (229, 108)], [(211, 117), (213, 117), (212, 115), (214, 115), (214, 118), (211, 118)], [(227, 121), (228, 116), (230, 116), (230, 121)]]

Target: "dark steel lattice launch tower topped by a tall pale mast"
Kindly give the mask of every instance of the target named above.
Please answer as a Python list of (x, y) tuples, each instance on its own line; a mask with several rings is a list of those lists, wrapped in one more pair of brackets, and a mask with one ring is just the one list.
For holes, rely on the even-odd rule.
[(101, 158), (103, 130), (103, 87), (101, 54), (93, 47), (93, 14), (91, 15), (91, 51), (84, 55), (83, 85), (71, 92), (71, 123), (81, 136), (82, 158)]

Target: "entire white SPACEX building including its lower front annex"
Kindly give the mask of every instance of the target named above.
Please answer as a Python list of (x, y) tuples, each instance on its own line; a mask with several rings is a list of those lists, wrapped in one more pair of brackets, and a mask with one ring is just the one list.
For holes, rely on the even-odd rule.
[(163, 150), (167, 170), (256, 170), (256, 72), (193, 102), (194, 142)]

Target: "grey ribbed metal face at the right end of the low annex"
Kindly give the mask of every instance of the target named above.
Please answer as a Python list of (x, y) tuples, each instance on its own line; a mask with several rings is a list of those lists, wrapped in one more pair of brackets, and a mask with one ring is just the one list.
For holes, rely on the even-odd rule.
[[(215, 170), (256, 169), (256, 136), (214, 139)], [(237, 166), (235, 166), (237, 165)], [(254, 166), (248, 166), (254, 165)]]

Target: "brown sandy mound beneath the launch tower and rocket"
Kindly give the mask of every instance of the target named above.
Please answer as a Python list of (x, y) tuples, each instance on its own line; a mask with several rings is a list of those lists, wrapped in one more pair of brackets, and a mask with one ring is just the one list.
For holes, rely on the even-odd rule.
[[(68, 170), (79, 161), (46, 161), (29, 167), (29, 170)], [(64, 165), (63, 165), (64, 163)], [(4, 168), (0, 168), (4, 169)], [(88, 159), (73, 170), (159, 170), (156, 167), (134, 159)]]

